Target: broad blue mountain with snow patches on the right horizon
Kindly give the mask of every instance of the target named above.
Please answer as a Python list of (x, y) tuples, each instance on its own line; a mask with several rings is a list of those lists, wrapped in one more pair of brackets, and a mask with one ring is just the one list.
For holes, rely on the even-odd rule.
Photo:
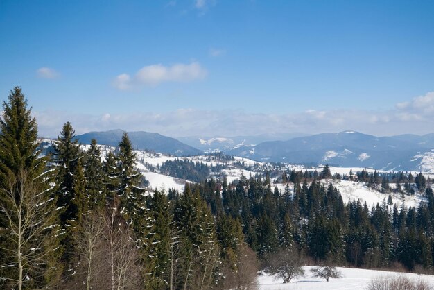
[(240, 146), (229, 153), (261, 161), (434, 172), (433, 148), (432, 134), (376, 137), (345, 131)]

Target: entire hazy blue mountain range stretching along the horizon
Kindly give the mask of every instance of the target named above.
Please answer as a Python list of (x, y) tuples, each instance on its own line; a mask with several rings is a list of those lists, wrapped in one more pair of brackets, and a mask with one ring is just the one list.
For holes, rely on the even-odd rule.
[[(123, 130), (89, 132), (76, 138), (89, 144), (117, 146)], [(434, 173), (434, 134), (376, 137), (354, 131), (317, 135), (257, 135), (239, 137), (166, 137), (158, 133), (129, 132), (132, 146), (177, 156), (223, 151), (229, 155), (262, 162), (330, 164), (338, 167), (367, 167), (382, 170)], [(274, 141), (273, 138), (286, 141)]]

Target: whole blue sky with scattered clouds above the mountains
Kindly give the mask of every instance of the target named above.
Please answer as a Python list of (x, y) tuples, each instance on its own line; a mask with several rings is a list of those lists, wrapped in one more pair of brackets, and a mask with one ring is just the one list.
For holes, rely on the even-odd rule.
[(434, 133), (433, 1), (0, 0), (0, 93), (55, 136)]

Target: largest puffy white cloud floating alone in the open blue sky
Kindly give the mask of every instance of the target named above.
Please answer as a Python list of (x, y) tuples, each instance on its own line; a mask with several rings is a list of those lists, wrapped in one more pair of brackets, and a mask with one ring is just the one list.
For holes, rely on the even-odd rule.
[(178, 63), (171, 67), (161, 64), (142, 67), (132, 78), (129, 74), (120, 74), (113, 80), (117, 89), (127, 90), (143, 85), (154, 87), (165, 82), (191, 82), (207, 76), (207, 70), (200, 63), (191, 62), (189, 65)]

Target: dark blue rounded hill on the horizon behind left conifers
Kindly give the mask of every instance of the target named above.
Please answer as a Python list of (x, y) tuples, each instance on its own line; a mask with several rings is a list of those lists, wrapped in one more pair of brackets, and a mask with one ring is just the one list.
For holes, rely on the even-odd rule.
[[(98, 144), (108, 146), (118, 146), (123, 135), (123, 130), (110, 130), (105, 132), (89, 132), (78, 135), (76, 138), (82, 144), (90, 144), (92, 139), (96, 139)], [(166, 137), (158, 133), (148, 132), (128, 132), (132, 146), (137, 150), (149, 150), (171, 155), (187, 156), (200, 155), (202, 151), (186, 145), (175, 138)]]

